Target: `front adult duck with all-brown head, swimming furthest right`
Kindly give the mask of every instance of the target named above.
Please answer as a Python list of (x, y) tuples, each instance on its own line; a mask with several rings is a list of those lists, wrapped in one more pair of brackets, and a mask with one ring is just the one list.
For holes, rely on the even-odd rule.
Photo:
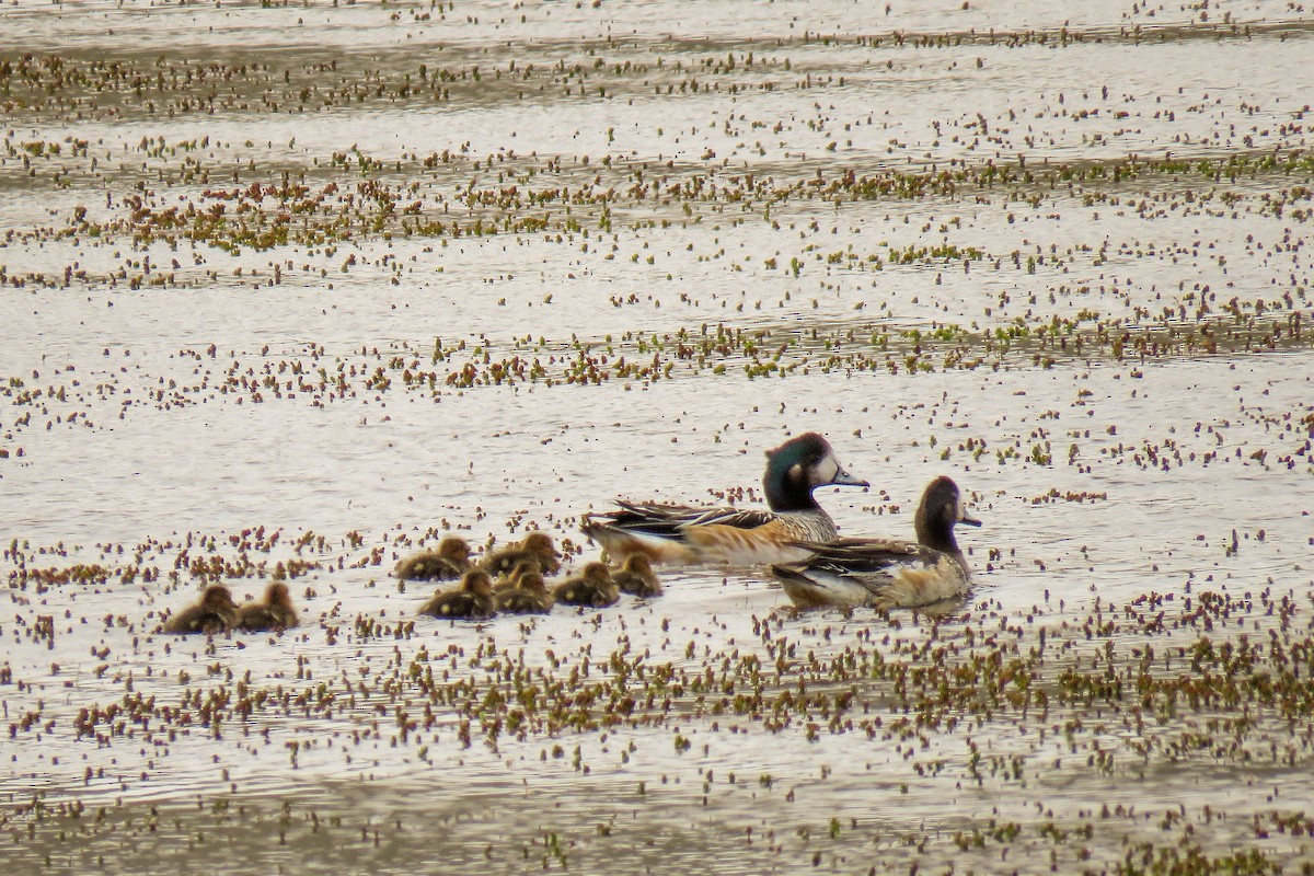
[(954, 525), (982, 525), (967, 514), (958, 485), (938, 477), (917, 506), (917, 541), (834, 538), (795, 542), (807, 559), (775, 563), (771, 574), (798, 608), (917, 608), (963, 596), (971, 582)]

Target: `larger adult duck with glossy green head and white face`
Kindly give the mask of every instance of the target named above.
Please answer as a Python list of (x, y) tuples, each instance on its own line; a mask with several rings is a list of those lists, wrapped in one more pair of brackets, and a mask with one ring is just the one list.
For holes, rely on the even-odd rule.
[(834, 520), (812, 491), (870, 486), (849, 474), (823, 436), (807, 432), (766, 452), (766, 511), (700, 508), (618, 500), (619, 511), (585, 515), (583, 533), (611, 557), (646, 554), (652, 562), (758, 565), (807, 558), (796, 541), (829, 541)]

